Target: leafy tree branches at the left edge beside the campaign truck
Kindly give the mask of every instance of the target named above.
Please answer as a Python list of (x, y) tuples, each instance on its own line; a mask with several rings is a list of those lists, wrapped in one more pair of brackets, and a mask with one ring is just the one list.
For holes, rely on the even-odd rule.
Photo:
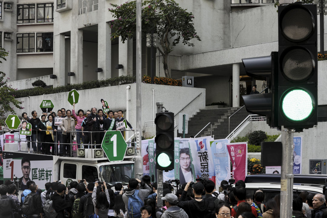
[[(0, 48), (0, 63), (2, 63), (1, 59), (6, 60), (6, 56), (8, 56), (8, 52), (4, 48)], [(0, 126), (5, 126), (5, 115), (7, 113), (16, 114), (14, 108), (11, 108), (10, 105), (13, 105), (16, 108), (24, 109), (20, 106), (22, 102), (17, 101), (15, 96), (10, 92), (15, 91), (15, 89), (11, 88), (8, 85), (9, 78), (5, 79), (6, 74), (0, 71)]]

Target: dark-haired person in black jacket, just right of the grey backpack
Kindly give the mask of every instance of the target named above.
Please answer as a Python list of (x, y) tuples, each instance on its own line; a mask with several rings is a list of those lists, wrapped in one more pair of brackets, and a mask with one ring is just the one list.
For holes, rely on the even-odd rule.
[(69, 199), (68, 190), (64, 184), (59, 184), (57, 192), (51, 195), (53, 208), (57, 212), (57, 218), (63, 218), (65, 210), (70, 213), (72, 210), (72, 202)]

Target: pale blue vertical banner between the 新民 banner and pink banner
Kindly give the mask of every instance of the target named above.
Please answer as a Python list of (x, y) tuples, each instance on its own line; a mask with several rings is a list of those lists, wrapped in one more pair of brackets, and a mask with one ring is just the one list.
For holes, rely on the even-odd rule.
[(216, 187), (220, 186), (222, 180), (231, 178), (231, 164), (227, 150), (228, 139), (219, 139), (210, 142), (212, 158), (214, 160)]

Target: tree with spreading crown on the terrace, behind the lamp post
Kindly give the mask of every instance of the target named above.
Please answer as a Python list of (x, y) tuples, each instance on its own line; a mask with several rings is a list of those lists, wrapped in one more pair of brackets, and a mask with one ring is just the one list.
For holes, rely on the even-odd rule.
[[(109, 8), (112, 16), (111, 40), (121, 37), (124, 43), (131, 39), (136, 30), (136, 1), (125, 2), (120, 6), (110, 4), (114, 8)], [(193, 24), (194, 16), (186, 9), (179, 7), (174, 0), (147, 0), (142, 2), (142, 36), (154, 31), (158, 34), (158, 50), (163, 56), (163, 69), (166, 77), (169, 77), (167, 58), (173, 51), (173, 47), (180, 41), (187, 46), (194, 46), (190, 41), (197, 39)]]

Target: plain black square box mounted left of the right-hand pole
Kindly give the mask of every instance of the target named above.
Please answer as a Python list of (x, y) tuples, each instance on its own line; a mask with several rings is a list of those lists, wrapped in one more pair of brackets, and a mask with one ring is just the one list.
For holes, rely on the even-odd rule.
[(282, 143), (262, 142), (261, 143), (261, 166), (282, 165)]

